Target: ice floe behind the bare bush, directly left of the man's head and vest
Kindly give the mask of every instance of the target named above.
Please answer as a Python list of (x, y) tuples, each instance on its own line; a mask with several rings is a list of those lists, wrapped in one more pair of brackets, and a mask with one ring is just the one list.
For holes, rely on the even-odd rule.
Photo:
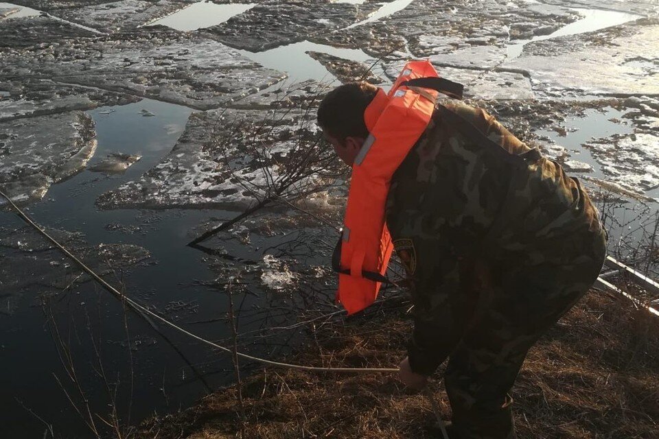
[[(319, 128), (312, 114), (289, 108), (193, 113), (170, 154), (138, 180), (102, 194), (97, 205), (244, 209), (291, 175), (289, 166), (301, 159), (290, 156), (294, 148), (329, 158), (326, 145), (317, 149)], [(308, 165), (305, 172), (319, 163)], [(281, 195), (314, 185), (316, 178), (300, 178)]]

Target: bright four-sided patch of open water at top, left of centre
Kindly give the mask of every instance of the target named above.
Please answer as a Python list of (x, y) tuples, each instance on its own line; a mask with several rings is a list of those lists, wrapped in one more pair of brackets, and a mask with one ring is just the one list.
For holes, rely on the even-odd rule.
[(169, 26), (181, 31), (196, 30), (202, 27), (211, 27), (224, 23), (224, 21), (229, 20), (232, 16), (250, 10), (254, 5), (255, 3), (228, 3), (219, 5), (218, 3), (200, 1), (178, 12), (174, 12), (174, 14), (165, 16), (163, 19), (153, 21), (149, 25)]

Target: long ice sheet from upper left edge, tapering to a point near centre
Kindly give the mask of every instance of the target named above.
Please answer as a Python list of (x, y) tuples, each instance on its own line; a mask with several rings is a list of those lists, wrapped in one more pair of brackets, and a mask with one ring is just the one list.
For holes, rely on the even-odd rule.
[(229, 104), (285, 77), (217, 41), (163, 27), (3, 51), (3, 75), (46, 75), (58, 82), (121, 89), (203, 110)]

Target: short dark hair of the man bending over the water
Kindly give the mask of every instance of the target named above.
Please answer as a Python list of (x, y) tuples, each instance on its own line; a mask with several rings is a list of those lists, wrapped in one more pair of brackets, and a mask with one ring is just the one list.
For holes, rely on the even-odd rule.
[(364, 111), (378, 88), (366, 81), (349, 82), (334, 88), (318, 108), (318, 124), (327, 134), (343, 143), (346, 137), (368, 137)]

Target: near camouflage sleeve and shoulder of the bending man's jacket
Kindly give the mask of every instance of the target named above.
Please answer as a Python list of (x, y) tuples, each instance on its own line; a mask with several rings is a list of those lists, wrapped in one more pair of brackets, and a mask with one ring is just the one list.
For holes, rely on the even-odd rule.
[[(513, 154), (529, 147), (483, 110), (450, 106)], [(386, 221), (413, 280), (415, 329), (408, 355), (430, 375), (461, 337), (470, 298), (461, 276), (492, 224), (510, 181), (509, 164), (493, 161), (436, 112), (392, 179)]]

